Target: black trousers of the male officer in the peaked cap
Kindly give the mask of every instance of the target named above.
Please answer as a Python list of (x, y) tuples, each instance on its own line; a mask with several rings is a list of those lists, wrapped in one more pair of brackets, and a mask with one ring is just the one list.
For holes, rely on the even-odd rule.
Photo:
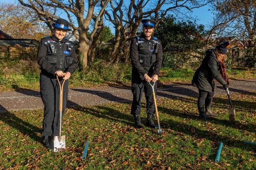
[[(150, 77), (151, 74), (148, 74)], [(153, 83), (150, 82), (152, 85)], [(142, 98), (142, 92), (144, 90), (145, 97), (146, 97), (146, 113), (149, 115), (154, 115), (155, 113), (155, 106), (154, 106), (154, 98), (153, 98), (153, 90), (152, 87), (146, 82), (145, 80), (141, 79), (141, 76), (138, 76), (138, 73), (132, 73), (132, 108), (131, 108), (131, 114), (132, 115), (140, 115), (141, 110), (141, 98)], [(157, 92), (157, 86), (155, 83), (154, 86), (154, 92), (156, 94)]]

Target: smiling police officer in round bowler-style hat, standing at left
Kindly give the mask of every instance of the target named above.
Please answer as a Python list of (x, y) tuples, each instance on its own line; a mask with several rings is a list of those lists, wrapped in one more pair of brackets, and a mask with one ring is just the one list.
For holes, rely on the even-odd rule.
[[(43, 132), (46, 148), (52, 148), (53, 136), (59, 135), (59, 85), (56, 75), (63, 86), (63, 110), (68, 99), (68, 79), (78, 66), (75, 47), (65, 39), (68, 21), (56, 20), (52, 24), (54, 35), (41, 39), (38, 46), (37, 61), (41, 67), (40, 93), (44, 103)], [(66, 73), (64, 75), (64, 72)]]

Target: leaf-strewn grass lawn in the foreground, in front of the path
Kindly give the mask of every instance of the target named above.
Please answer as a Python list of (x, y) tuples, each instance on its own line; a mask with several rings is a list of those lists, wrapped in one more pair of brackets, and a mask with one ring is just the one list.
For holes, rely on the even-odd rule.
[(59, 153), (42, 144), (42, 109), (0, 113), (0, 169), (256, 169), (256, 147), (243, 142), (256, 141), (256, 95), (231, 95), (234, 125), (228, 123), (226, 95), (214, 96), (212, 110), (219, 116), (209, 121), (198, 119), (197, 98), (158, 98), (161, 136), (148, 127), (134, 129), (130, 103), (66, 109), (67, 148)]

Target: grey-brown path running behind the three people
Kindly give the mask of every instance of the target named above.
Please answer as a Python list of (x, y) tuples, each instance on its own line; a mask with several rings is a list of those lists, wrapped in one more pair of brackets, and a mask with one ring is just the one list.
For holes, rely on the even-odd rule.
[[(256, 94), (256, 80), (231, 80), (230, 93)], [(226, 93), (217, 84), (216, 94)], [(158, 97), (188, 98), (197, 97), (198, 90), (188, 83), (171, 83), (158, 89)], [(68, 107), (104, 104), (107, 102), (131, 102), (130, 88), (107, 86), (96, 88), (71, 88), (68, 95)], [(40, 92), (18, 90), (0, 92), (0, 112), (43, 108)]]

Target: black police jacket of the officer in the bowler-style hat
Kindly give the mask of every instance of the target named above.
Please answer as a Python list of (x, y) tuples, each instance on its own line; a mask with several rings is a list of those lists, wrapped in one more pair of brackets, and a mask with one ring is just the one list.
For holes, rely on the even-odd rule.
[(37, 62), (42, 71), (50, 74), (54, 74), (57, 70), (72, 74), (78, 66), (74, 45), (65, 38), (59, 41), (54, 36), (41, 39)]

